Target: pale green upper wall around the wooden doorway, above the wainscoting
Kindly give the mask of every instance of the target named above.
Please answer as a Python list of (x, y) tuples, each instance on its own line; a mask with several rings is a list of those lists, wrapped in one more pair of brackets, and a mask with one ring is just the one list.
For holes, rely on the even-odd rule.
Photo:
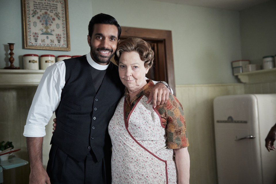
[(176, 85), (237, 82), (230, 64), (241, 57), (237, 11), (146, 0), (93, 0), (92, 10), (121, 26), (171, 30)]

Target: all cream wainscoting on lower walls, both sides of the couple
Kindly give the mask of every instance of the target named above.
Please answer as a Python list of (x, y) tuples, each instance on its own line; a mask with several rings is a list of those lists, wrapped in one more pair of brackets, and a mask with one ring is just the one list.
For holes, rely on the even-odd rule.
[[(28, 110), (36, 86), (0, 88), (0, 140), (12, 141), (14, 154), (28, 160), (26, 138), (23, 136)], [(215, 184), (216, 156), (213, 125), (213, 99), (221, 95), (244, 93), (275, 93), (276, 83), (177, 85), (176, 94), (184, 108), (191, 158), (190, 183)], [(52, 119), (46, 126), (43, 142), (43, 165), (46, 167), (52, 135)], [(29, 164), (4, 170), (4, 183), (28, 183)]]

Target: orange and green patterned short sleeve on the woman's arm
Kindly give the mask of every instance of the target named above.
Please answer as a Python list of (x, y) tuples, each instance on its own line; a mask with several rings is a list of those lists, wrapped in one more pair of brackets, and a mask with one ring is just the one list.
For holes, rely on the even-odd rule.
[(183, 107), (174, 95), (169, 95), (164, 114), (167, 120), (167, 147), (179, 149), (189, 146)]

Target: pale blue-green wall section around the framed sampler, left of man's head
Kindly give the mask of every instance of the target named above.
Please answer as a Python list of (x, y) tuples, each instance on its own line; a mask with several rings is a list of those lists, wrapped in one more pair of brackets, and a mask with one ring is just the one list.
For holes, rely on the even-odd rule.
[[(0, 68), (9, 66), (9, 46), (14, 45), (14, 65), (23, 69), (24, 54), (84, 55), (89, 52), (87, 44), (88, 23), (92, 15), (90, 0), (68, 0), (71, 51), (47, 51), (23, 49), (23, 22), (20, 0), (1, 0), (0, 6)], [(82, 12), (82, 13), (80, 13)]]

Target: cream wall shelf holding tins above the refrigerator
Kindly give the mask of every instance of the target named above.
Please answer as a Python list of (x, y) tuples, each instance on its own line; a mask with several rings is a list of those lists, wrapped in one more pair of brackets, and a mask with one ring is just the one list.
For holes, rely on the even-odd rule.
[(242, 83), (268, 83), (276, 82), (276, 68), (268, 70), (256, 70), (253, 72), (244, 72), (235, 74)]

